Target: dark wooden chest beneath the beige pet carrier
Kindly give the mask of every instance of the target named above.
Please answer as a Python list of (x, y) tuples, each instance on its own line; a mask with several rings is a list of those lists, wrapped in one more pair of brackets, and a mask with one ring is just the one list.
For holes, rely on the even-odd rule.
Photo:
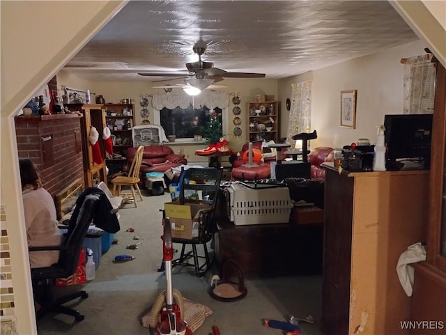
[(323, 223), (235, 226), (226, 215), (226, 199), (217, 205), (217, 260), (236, 260), (245, 277), (321, 274)]

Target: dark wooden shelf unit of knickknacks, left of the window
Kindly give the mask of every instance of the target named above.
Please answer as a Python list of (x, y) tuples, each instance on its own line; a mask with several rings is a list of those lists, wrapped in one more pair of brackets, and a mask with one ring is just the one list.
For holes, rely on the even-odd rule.
[(125, 157), (133, 146), (134, 104), (105, 104), (107, 127), (112, 131), (113, 152)]

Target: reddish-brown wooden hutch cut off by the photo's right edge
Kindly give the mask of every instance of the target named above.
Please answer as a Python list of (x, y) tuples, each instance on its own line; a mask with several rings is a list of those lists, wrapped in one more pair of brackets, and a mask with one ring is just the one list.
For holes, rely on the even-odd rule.
[[(413, 321), (431, 321), (411, 335), (446, 332), (446, 69), (436, 62), (426, 262), (414, 265)], [(419, 323), (420, 324), (420, 323)]]

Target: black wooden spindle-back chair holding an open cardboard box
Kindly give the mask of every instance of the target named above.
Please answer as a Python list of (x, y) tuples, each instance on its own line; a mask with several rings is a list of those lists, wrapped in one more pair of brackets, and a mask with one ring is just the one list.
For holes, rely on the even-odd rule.
[[(210, 257), (207, 244), (212, 240), (213, 233), (215, 233), (214, 212), (223, 169), (215, 169), (213, 167), (203, 169), (189, 168), (181, 173), (183, 181), (180, 185), (180, 203), (182, 205), (185, 203), (206, 203), (210, 205), (210, 210), (200, 213), (201, 226), (199, 227), (199, 237), (194, 237), (191, 240), (172, 237), (173, 243), (182, 244), (180, 257), (172, 260), (172, 266), (194, 267), (195, 274), (203, 276), (210, 269), (215, 258), (215, 253)], [(194, 183), (191, 183), (191, 181)], [(201, 199), (187, 196), (190, 192), (201, 192)], [(200, 245), (203, 249), (203, 254), (198, 253), (197, 246)], [(190, 246), (192, 250), (186, 251), (187, 246)], [(190, 258), (192, 258), (193, 262), (189, 261)], [(164, 261), (158, 268), (158, 271), (164, 271)]]

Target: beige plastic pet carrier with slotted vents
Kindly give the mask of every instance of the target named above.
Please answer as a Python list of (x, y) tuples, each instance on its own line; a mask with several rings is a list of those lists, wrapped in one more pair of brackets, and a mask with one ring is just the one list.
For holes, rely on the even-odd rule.
[(236, 184), (231, 185), (228, 191), (228, 216), (236, 226), (289, 222), (293, 203), (288, 187), (251, 189)]

